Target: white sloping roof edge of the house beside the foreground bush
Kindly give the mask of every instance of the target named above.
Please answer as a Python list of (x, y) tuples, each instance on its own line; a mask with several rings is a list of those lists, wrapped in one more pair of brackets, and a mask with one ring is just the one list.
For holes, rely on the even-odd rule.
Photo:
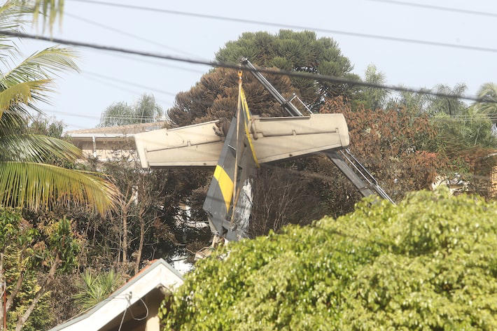
[(155, 260), (94, 307), (48, 331), (99, 330), (154, 288), (180, 286), (183, 276), (165, 260)]

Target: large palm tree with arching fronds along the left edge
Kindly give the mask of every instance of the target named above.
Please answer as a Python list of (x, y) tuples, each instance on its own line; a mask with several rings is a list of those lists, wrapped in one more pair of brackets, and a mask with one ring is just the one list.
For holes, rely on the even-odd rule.
[[(22, 0), (7, 1), (0, 6), (0, 30), (22, 30), (33, 10)], [(42, 113), (36, 105), (47, 102), (53, 91), (52, 76), (78, 71), (76, 52), (51, 47), (10, 66), (19, 57), (13, 40), (0, 36), (0, 205), (36, 211), (54, 204), (87, 204), (105, 213), (118, 197), (114, 185), (99, 174), (48, 163), (54, 158), (74, 162), (80, 150), (62, 139), (27, 133), (27, 123)]]

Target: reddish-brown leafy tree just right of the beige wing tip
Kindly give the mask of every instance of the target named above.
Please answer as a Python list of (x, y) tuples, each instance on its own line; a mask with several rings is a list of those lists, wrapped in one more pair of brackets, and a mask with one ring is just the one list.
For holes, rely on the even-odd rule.
[(434, 153), (430, 146), (437, 128), (426, 114), (412, 116), (405, 107), (354, 110), (342, 98), (329, 99), (321, 111), (344, 114), (351, 150), (394, 200), (406, 192), (429, 188), (435, 176), (447, 170), (447, 157)]

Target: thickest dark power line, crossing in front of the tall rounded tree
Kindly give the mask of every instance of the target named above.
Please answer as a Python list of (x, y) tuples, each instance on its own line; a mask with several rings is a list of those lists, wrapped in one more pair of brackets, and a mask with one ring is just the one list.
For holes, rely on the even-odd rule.
[(15, 31), (0, 30), (0, 35), (13, 36), (13, 37), (19, 37), (19, 38), (29, 38), (29, 39), (41, 40), (41, 41), (50, 41), (52, 43), (61, 43), (64, 45), (80, 46), (80, 47), (85, 47), (85, 48), (93, 48), (93, 49), (97, 49), (97, 50), (108, 50), (111, 52), (121, 52), (121, 53), (125, 53), (125, 54), (143, 55), (145, 57), (154, 57), (157, 59), (169, 59), (172, 61), (187, 62), (187, 63), (192, 63), (192, 64), (204, 64), (207, 66), (236, 69), (236, 70), (243, 69), (244, 71), (258, 71), (260, 73), (269, 73), (269, 74), (278, 75), (278, 76), (290, 76), (290, 77), (296, 77), (296, 78), (317, 80), (317, 81), (324, 82), (324, 83), (348, 84), (348, 85), (356, 85), (356, 86), (362, 86), (362, 87), (372, 87), (372, 88), (379, 88), (379, 89), (385, 89), (385, 90), (393, 90), (393, 91), (399, 91), (399, 92), (412, 92), (412, 93), (419, 93), (419, 94), (427, 94), (427, 95), (433, 95), (435, 97), (444, 97), (444, 98), (448, 98), (448, 99), (465, 99), (465, 100), (471, 100), (471, 101), (477, 101), (477, 102), (497, 103), (497, 101), (487, 101), (486, 99), (480, 99), (478, 97), (472, 97), (472, 96), (468, 96), (468, 95), (454, 95), (454, 94), (449, 94), (449, 93), (433, 92), (433, 91), (426, 90), (426, 89), (416, 89), (416, 88), (412, 88), (412, 87), (403, 87), (403, 86), (398, 86), (398, 85), (384, 85), (384, 84), (377, 84), (377, 83), (367, 83), (367, 82), (363, 82), (360, 80), (351, 80), (348, 78), (335, 77), (335, 76), (329, 76), (329, 75), (321, 75), (321, 74), (316, 74), (316, 73), (307, 73), (307, 72), (302, 72), (302, 71), (286, 71), (286, 70), (275, 70), (275, 69), (267, 69), (267, 68), (259, 68), (259, 69), (250, 69), (250, 68), (246, 68), (246, 67), (242, 68), (240, 66), (240, 64), (230, 63), (230, 62), (206, 61), (206, 60), (202, 60), (202, 59), (188, 59), (186, 57), (179, 57), (176, 55), (163, 55), (163, 54), (160, 54), (157, 52), (146, 52), (143, 50), (132, 50), (132, 49), (128, 49), (128, 48), (99, 45), (96, 43), (87, 43), (87, 42), (83, 42), (83, 41), (72, 41), (72, 40), (62, 39), (62, 38), (50, 38), (50, 37), (46, 37), (46, 36), (39, 36), (39, 35), (35, 35), (35, 34), (25, 34), (22, 32), (15, 32)]

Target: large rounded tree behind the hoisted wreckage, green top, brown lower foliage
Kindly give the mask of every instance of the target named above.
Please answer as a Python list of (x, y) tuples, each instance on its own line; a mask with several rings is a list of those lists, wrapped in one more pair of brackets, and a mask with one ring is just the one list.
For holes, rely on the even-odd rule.
[[(277, 69), (322, 73), (332, 76), (356, 78), (350, 73), (352, 65), (332, 38), (316, 38), (311, 31), (281, 30), (278, 34), (267, 32), (244, 33), (237, 41), (229, 41), (216, 55), (219, 61), (239, 62), (247, 57), (258, 66)], [(206, 73), (188, 92), (176, 96), (169, 117), (176, 125), (190, 125), (214, 118), (232, 118), (237, 106), (237, 72), (213, 69)], [(244, 90), (251, 100), (255, 115), (283, 115), (279, 104), (250, 73), (244, 73)], [(269, 81), (285, 97), (296, 93), (312, 109), (318, 110), (325, 97), (346, 94), (349, 86), (315, 83), (301, 78), (268, 76)]]

